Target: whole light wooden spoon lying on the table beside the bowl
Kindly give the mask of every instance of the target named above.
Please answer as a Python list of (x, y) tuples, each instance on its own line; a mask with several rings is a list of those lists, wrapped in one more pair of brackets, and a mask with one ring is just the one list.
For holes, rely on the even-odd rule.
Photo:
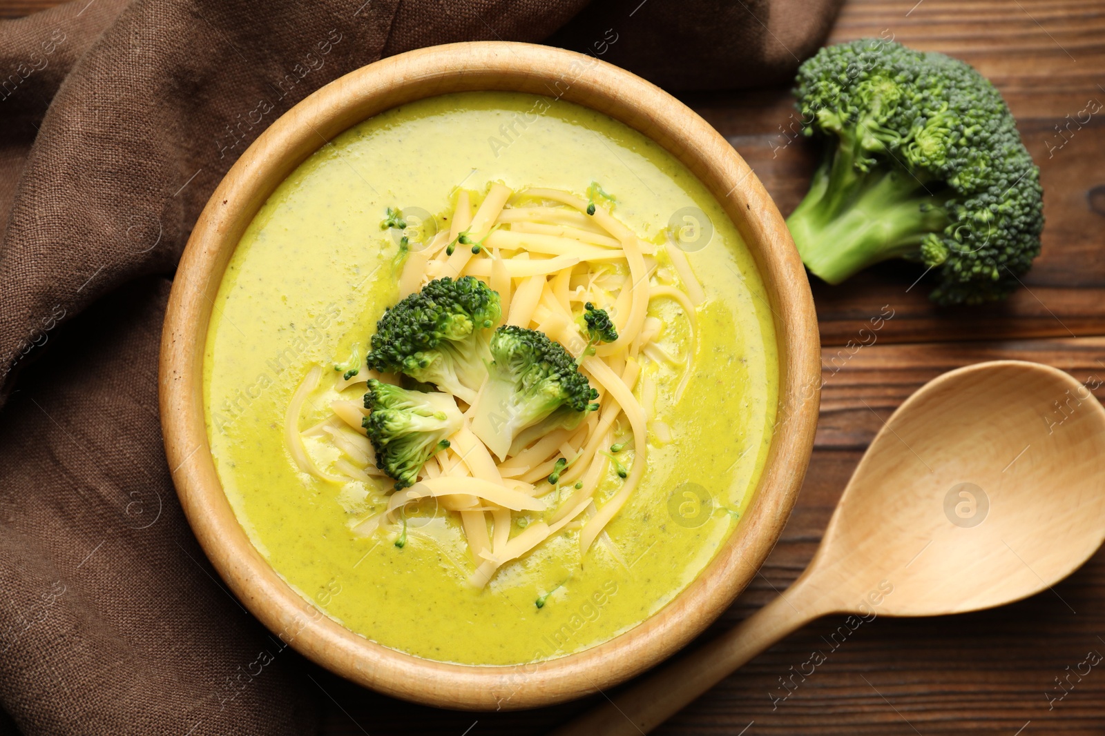
[(1105, 409), (1088, 388), (1020, 361), (945, 373), (875, 436), (786, 593), (554, 734), (648, 733), (827, 614), (941, 616), (1031, 596), (1101, 546), (1103, 512)]

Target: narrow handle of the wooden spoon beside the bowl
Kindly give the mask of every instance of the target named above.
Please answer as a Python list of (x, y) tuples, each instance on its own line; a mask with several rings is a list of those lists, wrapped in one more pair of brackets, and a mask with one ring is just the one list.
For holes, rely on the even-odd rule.
[(701, 648), (662, 664), (549, 736), (640, 736), (823, 611), (801, 600), (804, 579)]

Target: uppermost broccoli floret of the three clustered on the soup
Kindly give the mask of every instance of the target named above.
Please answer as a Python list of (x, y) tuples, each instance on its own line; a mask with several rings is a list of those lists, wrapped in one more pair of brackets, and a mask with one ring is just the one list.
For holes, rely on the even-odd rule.
[(469, 404), (487, 375), (498, 294), (472, 276), (427, 284), (389, 307), (376, 324), (369, 367), (406, 373)]

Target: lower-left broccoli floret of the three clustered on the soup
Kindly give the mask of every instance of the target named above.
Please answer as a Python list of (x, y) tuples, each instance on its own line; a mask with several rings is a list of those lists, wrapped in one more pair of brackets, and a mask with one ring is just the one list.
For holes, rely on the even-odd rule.
[(445, 439), (464, 424), (449, 394), (407, 391), (369, 378), (365, 394), (368, 439), (376, 450), (376, 467), (396, 480), (396, 490), (412, 486), (419, 470), (434, 452), (449, 447)]

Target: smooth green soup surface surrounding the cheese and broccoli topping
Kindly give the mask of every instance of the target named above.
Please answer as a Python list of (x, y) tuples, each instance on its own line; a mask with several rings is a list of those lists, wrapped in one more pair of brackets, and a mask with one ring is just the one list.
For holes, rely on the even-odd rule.
[[(678, 232), (706, 299), (688, 339), (678, 305), (651, 302), (665, 350), (696, 345), (692, 374), (645, 361), (654, 387), (648, 471), (579, 556), (569, 525), (502, 567), (483, 589), (454, 512), (422, 509), (399, 529), (351, 526), (387, 504), (386, 482), (339, 484), (301, 472), (284, 445), (293, 392), (326, 375), (299, 429), (323, 420), (346, 360), (398, 299), (389, 206), (441, 216), (457, 186), (582, 194), (600, 182), (612, 214), (642, 239)], [(586, 194), (583, 194), (586, 196)], [(432, 227), (432, 225), (427, 225)], [(448, 223), (438, 224), (448, 228)], [(688, 230), (687, 230), (688, 228)], [(672, 247), (672, 246), (669, 246)], [(663, 258), (660, 258), (663, 267)], [(419, 657), (516, 664), (599, 644), (657, 611), (734, 532), (766, 461), (777, 401), (771, 313), (755, 263), (705, 186), (660, 146), (599, 113), (514, 93), (434, 97), (380, 114), (324, 146), (261, 209), (232, 256), (207, 340), (204, 404), (215, 467), (246, 534), (304, 598), (352, 631)], [(333, 374), (333, 377), (332, 377)], [(651, 390), (650, 390), (651, 391)], [(364, 392), (364, 384), (359, 393)], [(656, 437), (661, 423), (669, 431)], [(305, 439), (320, 463), (337, 450)], [(383, 479), (386, 480), (386, 479)], [(601, 508), (618, 489), (610, 472)], [(518, 532), (520, 530), (515, 530)], [(539, 604), (539, 605), (538, 605)]]

